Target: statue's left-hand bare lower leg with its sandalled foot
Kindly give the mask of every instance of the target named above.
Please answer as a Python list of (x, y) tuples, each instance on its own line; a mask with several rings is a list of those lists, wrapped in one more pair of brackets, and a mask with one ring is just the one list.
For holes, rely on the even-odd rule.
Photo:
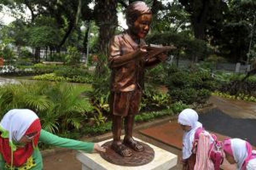
[(121, 156), (127, 157), (132, 155), (132, 151), (127, 148), (121, 142), (120, 136), (122, 134), (122, 116), (113, 115), (112, 122), (112, 133), (113, 133), (113, 142), (111, 148)]

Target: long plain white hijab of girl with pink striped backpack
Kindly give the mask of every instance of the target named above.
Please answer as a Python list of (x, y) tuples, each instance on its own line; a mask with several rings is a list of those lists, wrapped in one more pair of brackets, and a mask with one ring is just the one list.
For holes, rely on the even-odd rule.
[(184, 109), (179, 114), (178, 123), (191, 126), (191, 130), (183, 135), (182, 158), (187, 159), (192, 154), (196, 130), (202, 127), (202, 123), (198, 122), (197, 112), (190, 108)]

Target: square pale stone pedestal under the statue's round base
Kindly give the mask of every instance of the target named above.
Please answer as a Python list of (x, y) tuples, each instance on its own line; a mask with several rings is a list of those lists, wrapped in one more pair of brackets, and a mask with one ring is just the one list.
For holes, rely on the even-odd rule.
[[(110, 140), (112, 139), (102, 141), (99, 144), (102, 145)], [(142, 141), (140, 139), (136, 140)], [(82, 163), (82, 170), (168, 170), (176, 166), (177, 155), (174, 155), (161, 148), (151, 145), (150, 143), (147, 143), (147, 145), (154, 149), (155, 158), (152, 160), (152, 162), (137, 167), (125, 167), (111, 164), (104, 160), (103, 158), (101, 158), (100, 154), (98, 153), (89, 154), (79, 151), (79, 153), (77, 153), (76, 155), (76, 158), (80, 160), (80, 162)]]

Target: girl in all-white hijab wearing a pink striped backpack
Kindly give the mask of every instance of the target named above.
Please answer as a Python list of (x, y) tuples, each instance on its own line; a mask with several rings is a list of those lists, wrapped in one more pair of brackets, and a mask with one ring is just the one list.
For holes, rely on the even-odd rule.
[(216, 149), (218, 145), (216, 136), (203, 129), (202, 123), (198, 121), (197, 112), (189, 108), (184, 109), (179, 114), (178, 123), (184, 131), (183, 170), (218, 170), (223, 157)]

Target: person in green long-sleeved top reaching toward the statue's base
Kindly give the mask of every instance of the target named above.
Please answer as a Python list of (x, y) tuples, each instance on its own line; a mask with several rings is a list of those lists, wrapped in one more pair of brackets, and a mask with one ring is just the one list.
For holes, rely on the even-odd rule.
[(38, 141), (89, 153), (105, 152), (97, 143), (62, 138), (42, 130), (38, 116), (29, 109), (12, 109), (0, 122), (0, 169), (42, 170)]

